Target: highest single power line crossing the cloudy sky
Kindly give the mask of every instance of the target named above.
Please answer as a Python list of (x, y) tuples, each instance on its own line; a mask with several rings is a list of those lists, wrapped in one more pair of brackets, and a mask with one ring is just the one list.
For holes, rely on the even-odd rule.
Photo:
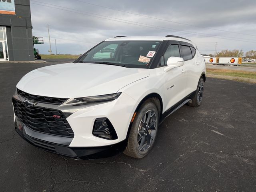
[(191, 25), (191, 24), (186, 24), (186, 23), (181, 23), (181, 22), (174, 22), (174, 21), (165, 20), (165, 19), (161, 19), (161, 18), (156, 18), (156, 17), (152, 17), (152, 16), (142, 15), (142, 14), (138, 14), (138, 13), (123, 11), (123, 10), (118, 10), (118, 9), (114, 9), (114, 8), (110, 8), (110, 7), (106, 7), (106, 6), (101, 6), (101, 5), (97, 5), (97, 4), (93, 4), (93, 3), (88, 3), (88, 2), (81, 1), (81, 0), (75, 0), (75, 1), (90, 4), (90, 5), (94, 5), (94, 6), (98, 6), (98, 7), (102, 7), (102, 8), (107, 8), (107, 9), (110, 9), (110, 10), (115, 10), (115, 11), (119, 11), (119, 12), (124, 12), (124, 13), (128, 13), (128, 14), (143, 16), (143, 17), (147, 17), (147, 18), (151, 18), (151, 19), (156, 19), (156, 20), (161, 20), (161, 21), (166, 21), (166, 22), (171, 22), (171, 23), (176, 23), (176, 24), (181, 24), (181, 25), (193, 26), (193, 27), (197, 27), (197, 28), (211, 29), (211, 30), (222, 31), (222, 32), (229, 32), (229, 33), (235, 33), (235, 34), (256, 36), (256, 35), (251, 35), (251, 34), (246, 34), (246, 33), (238, 33), (238, 32), (233, 32), (233, 31), (214, 29), (214, 28), (208, 28), (208, 27), (203, 27), (203, 26), (196, 26), (196, 25)]

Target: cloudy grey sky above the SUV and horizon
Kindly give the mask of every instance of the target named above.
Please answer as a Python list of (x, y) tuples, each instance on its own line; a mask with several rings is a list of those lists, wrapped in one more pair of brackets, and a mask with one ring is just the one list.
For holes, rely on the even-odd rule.
[(255, 0), (30, 0), (36, 45), (52, 52), (82, 54), (114, 36), (182, 36), (195, 42), (201, 54), (239, 49), (256, 50)]

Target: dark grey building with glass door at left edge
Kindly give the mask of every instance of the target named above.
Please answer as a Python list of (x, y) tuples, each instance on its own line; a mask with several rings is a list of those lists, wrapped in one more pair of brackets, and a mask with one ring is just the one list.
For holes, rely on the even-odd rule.
[(33, 61), (30, 0), (0, 0), (0, 61)]

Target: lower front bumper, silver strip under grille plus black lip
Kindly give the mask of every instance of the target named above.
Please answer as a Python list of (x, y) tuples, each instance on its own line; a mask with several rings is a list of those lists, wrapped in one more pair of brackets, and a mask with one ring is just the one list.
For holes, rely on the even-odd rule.
[(75, 159), (96, 159), (114, 156), (123, 152), (127, 144), (127, 139), (125, 139), (122, 142), (108, 146), (69, 147), (72, 138), (36, 132), (22, 124), (17, 118), (15, 120), (15, 130), (24, 140), (37, 148)]

